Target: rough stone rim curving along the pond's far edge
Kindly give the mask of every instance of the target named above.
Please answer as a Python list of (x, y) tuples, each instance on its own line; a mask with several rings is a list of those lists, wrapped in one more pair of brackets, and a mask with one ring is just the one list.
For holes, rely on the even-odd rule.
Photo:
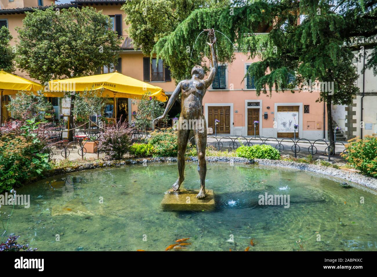
[[(323, 165), (314, 164), (304, 164), (299, 162), (289, 162), (280, 160), (268, 160), (268, 159), (246, 159), (240, 157), (217, 157), (217, 156), (207, 156), (205, 160), (208, 162), (236, 162), (243, 164), (259, 164), (259, 165), (271, 165), (285, 168), (293, 168), (297, 170), (305, 170), (314, 173), (320, 173), (335, 178), (343, 179), (345, 181), (354, 182), (356, 184), (362, 185), (364, 187), (371, 188), (377, 191), (377, 179), (364, 176), (359, 173), (350, 172), (342, 169), (336, 169), (332, 167), (325, 167)], [(98, 162), (87, 162), (84, 164), (76, 165), (74, 167), (58, 168), (50, 170), (45, 174), (45, 177), (54, 176), (57, 174), (70, 173), (74, 171), (81, 171), (87, 169), (104, 168), (104, 167), (120, 167), (127, 164), (142, 164), (144, 161), (147, 162), (176, 162), (176, 157), (159, 157), (159, 158), (138, 158), (138, 159), (124, 159), (118, 161), (98, 161)], [(189, 157), (186, 161), (197, 162), (198, 157)]]

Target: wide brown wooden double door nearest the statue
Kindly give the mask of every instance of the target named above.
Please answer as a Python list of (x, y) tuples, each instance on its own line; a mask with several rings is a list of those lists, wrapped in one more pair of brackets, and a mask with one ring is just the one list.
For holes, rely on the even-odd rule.
[(208, 127), (215, 133), (215, 119), (219, 120), (216, 127), (218, 134), (230, 134), (230, 106), (208, 106)]

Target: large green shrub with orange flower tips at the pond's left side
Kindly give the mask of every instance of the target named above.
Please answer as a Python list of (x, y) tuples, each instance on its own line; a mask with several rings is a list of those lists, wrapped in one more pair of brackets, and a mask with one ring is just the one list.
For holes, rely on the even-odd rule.
[(0, 192), (31, 181), (49, 169), (49, 153), (35, 119), (0, 128)]

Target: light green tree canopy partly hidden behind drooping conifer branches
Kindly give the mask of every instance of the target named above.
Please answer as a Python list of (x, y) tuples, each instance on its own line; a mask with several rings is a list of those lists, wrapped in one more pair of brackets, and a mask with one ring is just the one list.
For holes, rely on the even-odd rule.
[[(173, 32), (192, 12), (205, 8), (228, 7), (231, 2), (231, 0), (130, 0), (122, 9), (127, 14), (126, 24), (129, 25), (127, 32), (133, 39), (135, 49), (141, 47), (143, 54), (149, 56), (156, 42)], [(170, 66), (174, 63), (179, 65), (172, 71), (175, 80), (180, 80), (186, 75), (186, 68), (192, 68), (193, 64), (203, 62), (204, 55), (200, 52), (193, 54), (190, 59), (192, 44), (193, 41), (190, 41), (180, 46), (185, 54), (177, 56), (175, 61), (171, 60), (169, 63)], [(224, 46), (229, 48), (228, 45)]]

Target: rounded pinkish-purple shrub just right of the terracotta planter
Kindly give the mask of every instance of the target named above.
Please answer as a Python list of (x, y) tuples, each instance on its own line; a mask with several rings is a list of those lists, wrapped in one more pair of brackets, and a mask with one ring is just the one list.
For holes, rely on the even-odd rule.
[(115, 125), (106, 127), (98, 139), (98, 148), (106, 153), (110, 160), (120, 160), (129, 151), (131, 145), (131, 130), (126, 121), (121, 119)]

